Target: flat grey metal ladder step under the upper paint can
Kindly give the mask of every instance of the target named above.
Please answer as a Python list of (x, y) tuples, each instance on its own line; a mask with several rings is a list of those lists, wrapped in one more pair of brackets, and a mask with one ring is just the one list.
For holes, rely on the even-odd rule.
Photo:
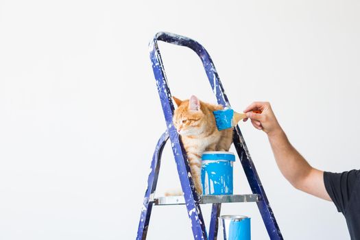
[[(156, 197), (155, 205), (180, 205), (185, 204), (184, 196)], [(241, 195), (201, 195), (200, 204), (219, 204), (226, 202), (259, 202), (258, 194)]]

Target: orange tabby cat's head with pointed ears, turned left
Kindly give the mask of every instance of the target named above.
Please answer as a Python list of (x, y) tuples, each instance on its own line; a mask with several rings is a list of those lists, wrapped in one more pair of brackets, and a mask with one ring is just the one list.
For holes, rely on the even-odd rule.
[(178, 108), (173, 115), (173, 125), (182, 136), (199, 135), (206, 128), (206, 115), (202, 112), (200, 100), (191, 96), (188, 100), (173, 97)]

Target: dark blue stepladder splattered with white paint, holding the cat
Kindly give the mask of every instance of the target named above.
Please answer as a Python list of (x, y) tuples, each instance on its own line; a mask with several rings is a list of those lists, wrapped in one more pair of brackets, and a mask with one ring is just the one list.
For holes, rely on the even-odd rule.
[[(197, 55), (202, 60), (202, 64), (204, 65), (206, 75), (208, 76), (208, 80), (217, 99), (217, 103), (230, 108), (228, 97), (226, 97), (224, 88), (219, 80), (219, 75), (217, 75), (213, 61), (208, 55), (206, 49), (204, 49), (200, 43), (197, 43), (195, 40), (190, 38), (167, 32), (159, 32), (154, 36), (154, 38), (149, 43), (150, 59), (152, 61), (152, 68), (154, 70), (156, 86), (158, 88), (158, 94), (160, 96), (161, 105), (163, 107), (167, 130), (163, 133), (162, 136), (160, 136), (152, 158), (151, 171), (147, 180), (147, 190), (145, 191), (143, 208), (141, 210), (141, 217), (136, 239), (146, 239), (152, 206), (170, 204), (186, 205), (187, 213), (191, 219), (191, 228), (194, 239), (217, 239), (217, 227), (218, 218), (221, 211), (221, 203), (226, 202), (256, 202), (259, 207), (261, 217), (263, 217), (269, 238), (272, 240), (283, 239), (239, 126), (234, 128), (233, 143), (237, 150), (237, 154), (239, 155), (241, 165), (243, 166), (245, 175), (248, 178), (248, 182), (253, 194), (197, 195), (193, 179), (191, 178), (191, 171), (187, 161), (187, 154), (184, 150), (182, 142), (180, 141), (180, 136), (178, 135), (178, 132), (176, 132), (176, 128), (172, 123), (174, 107), (170, 89), (167, 84), (167, 77), (165, 74), (163, 61), (160, 56), (160, 50), (158, 49), (158, 40), (172, 43), (174, 45), (189, 47), (195, 51), (195, 53), (197, 53)], [(155, 198), (154, 194), (158, 180), (158, 173), (160, 171), (161, 154), (168, 139), (171, 141), (173, 156), (178, 168), (178, 174), (182, 191), (184, 192), (184, 197), (179, 196)], [(208, 234), (206, 232), (200, 204), (213, 204)]]

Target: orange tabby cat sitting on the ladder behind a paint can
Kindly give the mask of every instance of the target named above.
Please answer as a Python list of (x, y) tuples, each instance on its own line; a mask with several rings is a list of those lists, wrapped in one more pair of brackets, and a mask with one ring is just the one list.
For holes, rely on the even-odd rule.
[(184, 101), (176, 97), (173, 97), (173, 100), (178, 106), (173, 115), (173, 125), (180, 134), (187, 152), (195, 189), (201, 195), (202, 153), (205, 151), (228, 152), (232, 143), (232, 128), (217, 130), (213, 111), (224, 109), (221, 105), (204, 103), (195, 96)]

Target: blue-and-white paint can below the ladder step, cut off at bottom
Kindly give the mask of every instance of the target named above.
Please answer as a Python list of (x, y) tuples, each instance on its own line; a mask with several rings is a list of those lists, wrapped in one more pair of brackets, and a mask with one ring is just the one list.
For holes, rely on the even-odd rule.
[(224, 215), (219, 217), (224, 240), (250, 240), (250, 217)]

